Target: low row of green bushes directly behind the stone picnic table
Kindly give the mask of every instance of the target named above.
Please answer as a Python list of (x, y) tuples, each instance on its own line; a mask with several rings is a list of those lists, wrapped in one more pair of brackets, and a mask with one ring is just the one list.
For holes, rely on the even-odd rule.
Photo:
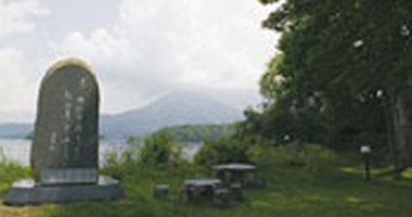
[(205, 166), (226, 163), (253, 163), (263, 167), (295, 165), (316, 170), (334, 156), (334, 152), (318, 144), (293, 142), (282, 145), (263, 137), (248, 136), (208, 140), (194, 156), (194, 163)]

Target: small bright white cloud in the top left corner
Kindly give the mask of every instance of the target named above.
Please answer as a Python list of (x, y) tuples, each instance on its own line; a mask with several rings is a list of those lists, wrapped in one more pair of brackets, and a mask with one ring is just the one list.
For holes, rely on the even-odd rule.
[(29, 21), (31, 16), (43, 16), (49, 11), (36, 0), (12, 1), (0, 0), (0, 37), (13, 33), (28, 33), (35, 28)]

